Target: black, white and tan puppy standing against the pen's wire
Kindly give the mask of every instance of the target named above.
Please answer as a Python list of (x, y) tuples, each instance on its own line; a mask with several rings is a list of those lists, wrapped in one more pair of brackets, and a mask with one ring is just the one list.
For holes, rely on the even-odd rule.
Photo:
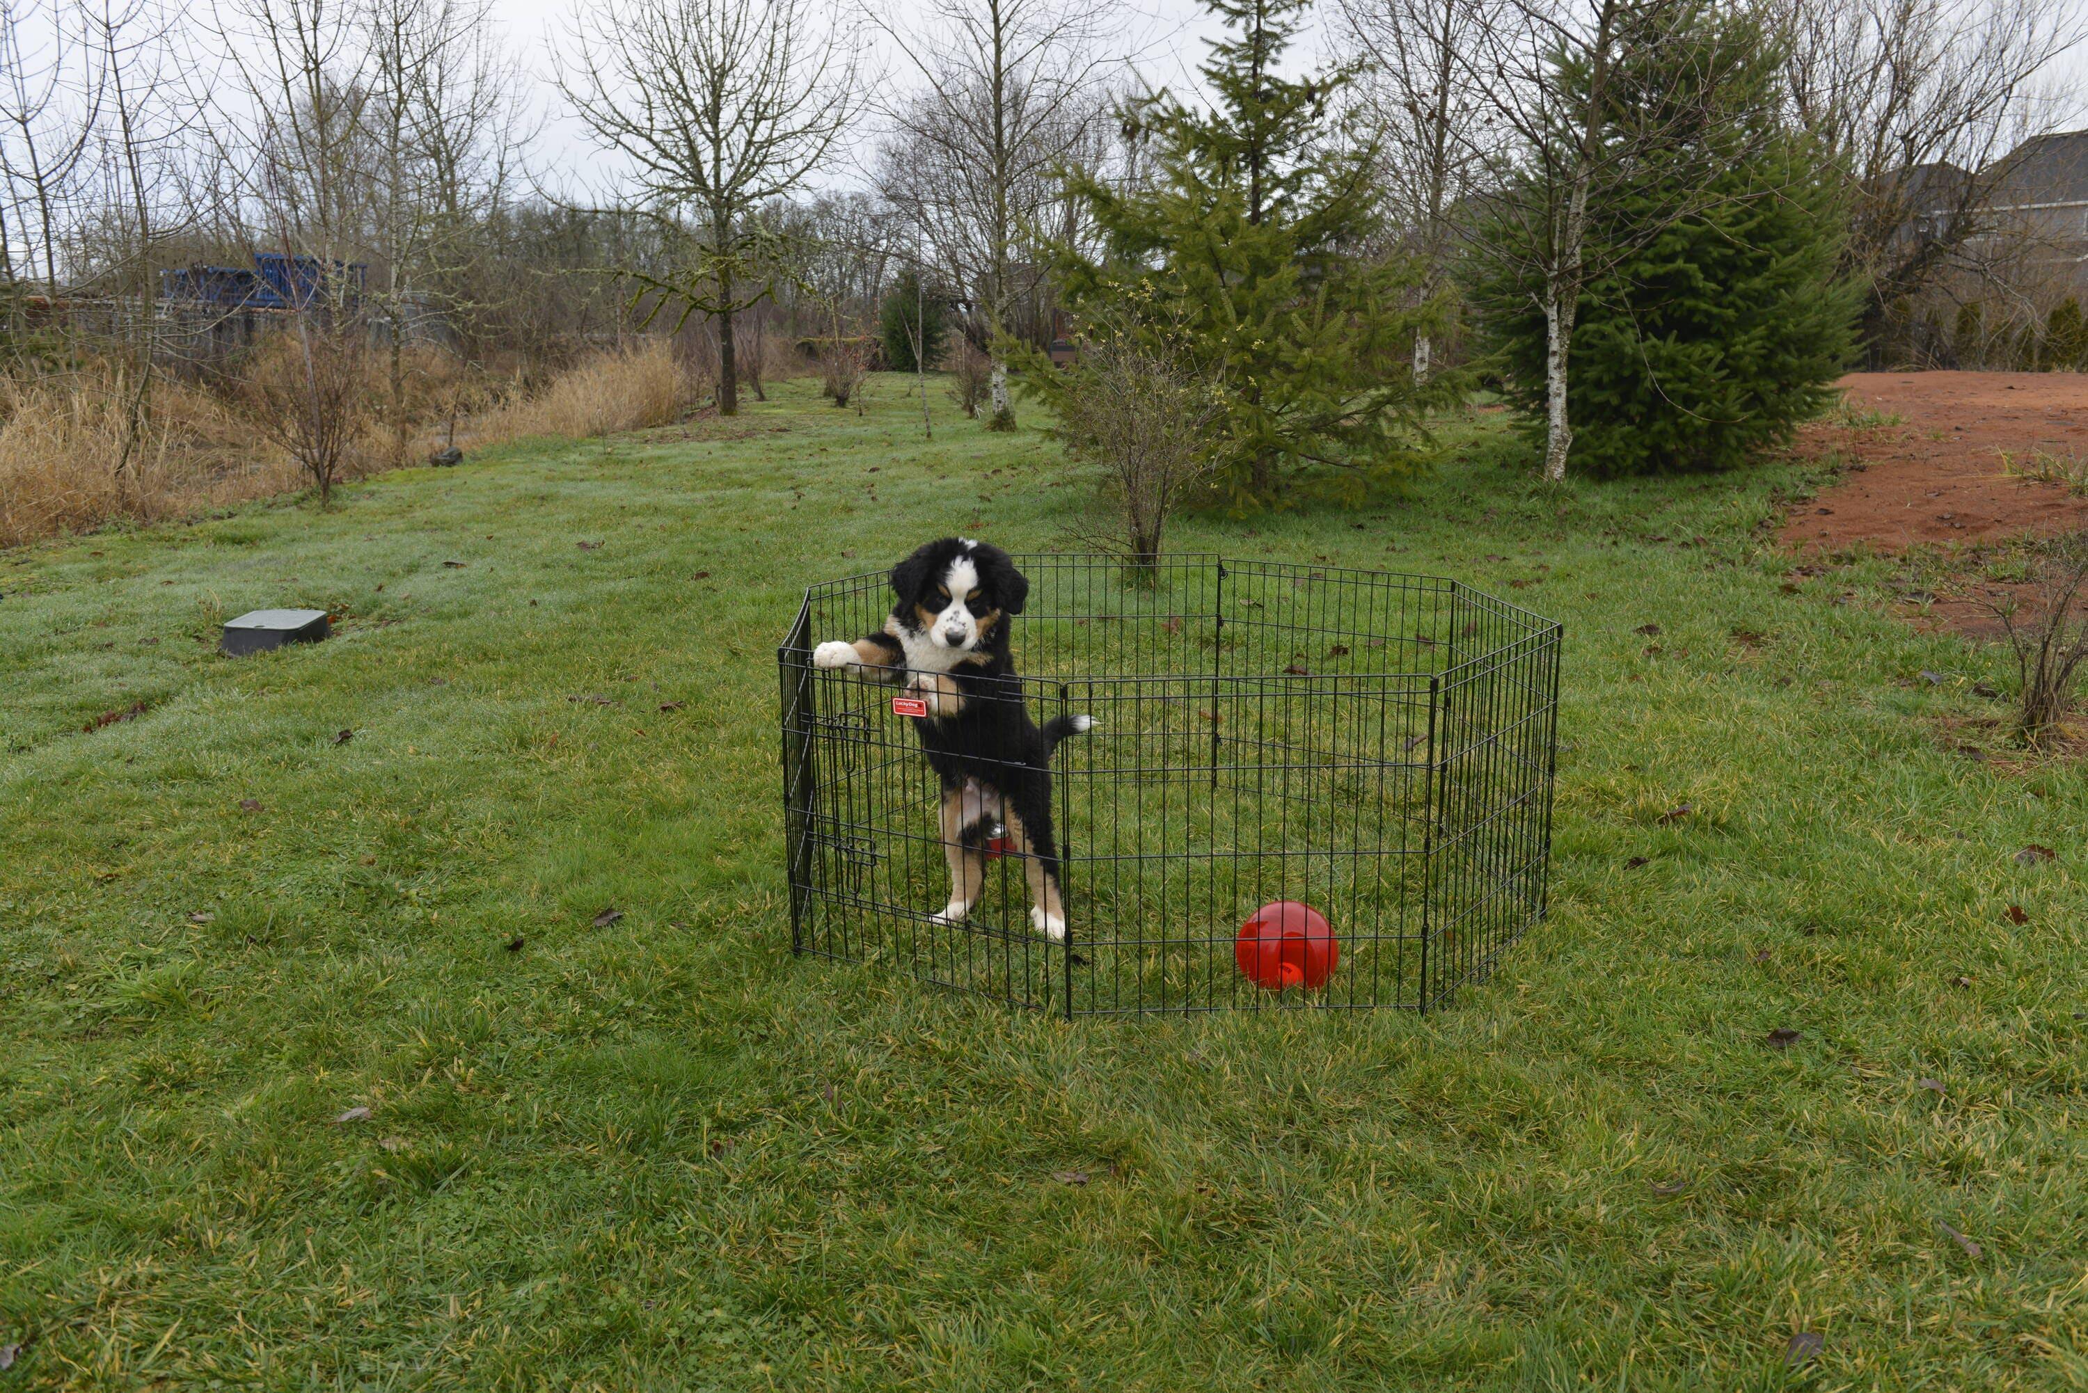
[(1006, 622), (1023, 612), (1029, 581), (1000, 547), (944, 537), (894, 566), (892, 589), (898, 601), (879, 633), (821, 643), (812, 664), (902, 685), (927, 708), (915, 716), (915, 733), (942, 781), (942, 846), (950, 863), (950, 902), (935, 919), (956, 923), (979, 902), (986, 842), (1000, 823), (1023, 860), (1031, 927), (1063, 940), (1050, 756), (1061, 739), (1094, 721), (1054, 716), (1042, 727), (1029, 721)]

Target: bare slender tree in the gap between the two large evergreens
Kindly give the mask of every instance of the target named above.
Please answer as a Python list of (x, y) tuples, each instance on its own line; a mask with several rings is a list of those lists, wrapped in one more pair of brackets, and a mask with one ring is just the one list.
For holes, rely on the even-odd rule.
[[(1416, 303), (1449, 274), (1457, 217), (1485, 178), (1497, 129), (1493, 102), (1464, 56), (1485, 36), (1480, 0), (1340, 0), (1349, 38), (1370, 56), (1361, 84), (1391, 221), (1420, 278)], [(1414, 376), (1428, 378), (1430, 338), (1414, 338)]]

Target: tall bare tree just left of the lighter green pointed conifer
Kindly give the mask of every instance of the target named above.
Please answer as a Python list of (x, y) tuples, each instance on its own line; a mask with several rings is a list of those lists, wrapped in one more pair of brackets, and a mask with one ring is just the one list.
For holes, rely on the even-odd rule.
[(1031, 242), (1105, 113), (1102, 15), (1088, 0), (929, 0), (923, 31), (892, 29), (923, 88), (887, 111), (879, 188), (973, 305), (994, 430), (1015, 426), (998, 340), (1042, 284)]

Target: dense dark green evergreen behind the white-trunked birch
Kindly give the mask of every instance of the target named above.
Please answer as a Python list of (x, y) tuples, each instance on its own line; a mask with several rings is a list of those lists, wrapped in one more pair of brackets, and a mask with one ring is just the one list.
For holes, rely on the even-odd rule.
[[(1574, 455), (1591, 474), (1727, 468), (1825, 405), (1858, 290), (1833, 278), (1842, 209), (1781, 125), (1779, 54), (1746, 13), (1662, 8), (1624, 48), (1616, 129), (1660, 132), (1589, 209), (1572, 332)], [(1585, 73), (1568, 73), (1568, 86)], [(1518, 230), (1482, 232), (1482, 249)], [(1480, 253), (1474, 303), (1510, 395), (1543, 407), (1545, 320), (1526, 257)]]

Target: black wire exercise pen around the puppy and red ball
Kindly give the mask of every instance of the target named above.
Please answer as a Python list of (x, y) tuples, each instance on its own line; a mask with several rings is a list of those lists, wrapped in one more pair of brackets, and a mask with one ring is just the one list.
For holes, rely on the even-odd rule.
[[(1023, 856), (950, 898), (940, 787), (896, 689), (816, 670), (883, 627), (883, 574), (814, 585), (779, 650), (791, 946), (1065, 1015), (1445, 1005), (1545, 913), (1560, 624), (1453, 581), (1019, 556), (1015, 666), (1059, 746), (1065, 942)], [(1009, 700), (1023, 700), (1011, 695)], [(1263, 904), (1330, 923), (1318, 986), (1234, 957)]]

